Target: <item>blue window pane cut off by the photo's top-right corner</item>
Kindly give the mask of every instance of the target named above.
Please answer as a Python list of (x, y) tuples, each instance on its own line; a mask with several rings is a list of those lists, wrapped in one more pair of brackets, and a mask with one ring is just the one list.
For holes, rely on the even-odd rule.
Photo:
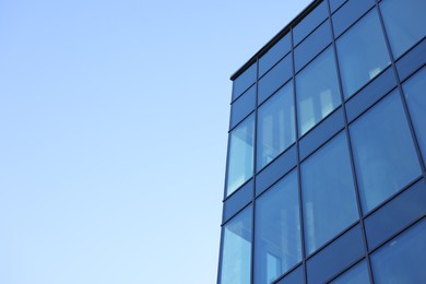
[(386, 0), (380, 8), (395, 58), (426, 35), (425, 0)]

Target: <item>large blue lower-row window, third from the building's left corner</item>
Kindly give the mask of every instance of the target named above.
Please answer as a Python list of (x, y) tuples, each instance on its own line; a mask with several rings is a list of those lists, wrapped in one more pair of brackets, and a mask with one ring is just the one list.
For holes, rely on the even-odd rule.
[(301, 189), (305, 241), (310, 253), (358, 218), (344, 133), (301, 164)]

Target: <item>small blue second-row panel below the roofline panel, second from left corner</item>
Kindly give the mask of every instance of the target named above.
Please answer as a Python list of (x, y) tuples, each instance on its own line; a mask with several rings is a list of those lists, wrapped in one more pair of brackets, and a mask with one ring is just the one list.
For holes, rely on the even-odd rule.
[(259, 80), (259, 105), (292, 78), (292, 57), (288, 55)]

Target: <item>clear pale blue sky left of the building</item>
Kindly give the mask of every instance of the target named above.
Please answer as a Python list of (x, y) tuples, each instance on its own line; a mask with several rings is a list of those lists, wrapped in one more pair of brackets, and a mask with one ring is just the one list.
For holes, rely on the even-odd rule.
[(229, 75), (310, 0), (0, 0), (0, 283), (215, 283)]

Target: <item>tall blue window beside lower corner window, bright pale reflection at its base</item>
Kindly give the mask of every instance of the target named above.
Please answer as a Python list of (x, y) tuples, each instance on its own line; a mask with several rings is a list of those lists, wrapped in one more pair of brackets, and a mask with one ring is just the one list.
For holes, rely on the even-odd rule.
[(301, 260), (297, 171), (256, 203), (255, 281), (269, 284)]

